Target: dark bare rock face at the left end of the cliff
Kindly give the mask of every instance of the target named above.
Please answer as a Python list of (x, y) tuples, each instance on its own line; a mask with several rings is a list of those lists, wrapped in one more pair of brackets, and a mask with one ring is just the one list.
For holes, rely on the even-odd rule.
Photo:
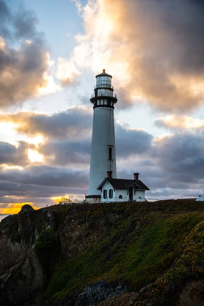
[(46, 228), (56, 228), (53, 212), (25, 210), (0, 223), (0, 304), (23, 304), (43, 290), (46, 271), (34, 248)]

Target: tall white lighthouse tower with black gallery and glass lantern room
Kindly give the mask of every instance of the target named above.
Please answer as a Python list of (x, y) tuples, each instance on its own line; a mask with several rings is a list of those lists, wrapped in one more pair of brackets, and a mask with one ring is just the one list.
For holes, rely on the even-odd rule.
[(89, 195), (86, 196), (90, 202), (100, 200), (101, 191), (97, 187), (107, 176), (107, 171), (112, 171), (112, 178), (116, 179), (114, 105), (117, 97), (111, 79), (112, 75), (105, 69), (96, 75), (96, 85), (90, 99), (94, 111)]

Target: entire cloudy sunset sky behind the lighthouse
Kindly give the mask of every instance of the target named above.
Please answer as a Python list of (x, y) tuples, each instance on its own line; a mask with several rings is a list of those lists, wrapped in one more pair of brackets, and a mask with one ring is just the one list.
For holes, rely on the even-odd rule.
[(88, 194), (95, 75), (113, 75), (117, 177), (203, 193), (201, 0), (0, 0), (0, 214)]

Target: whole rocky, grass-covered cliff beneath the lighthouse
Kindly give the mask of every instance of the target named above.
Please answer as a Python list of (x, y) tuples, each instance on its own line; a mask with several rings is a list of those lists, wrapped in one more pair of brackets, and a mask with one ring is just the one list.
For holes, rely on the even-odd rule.
[(56, 205), (0, 223), (0, 304), (204, 305), (204, 202)]

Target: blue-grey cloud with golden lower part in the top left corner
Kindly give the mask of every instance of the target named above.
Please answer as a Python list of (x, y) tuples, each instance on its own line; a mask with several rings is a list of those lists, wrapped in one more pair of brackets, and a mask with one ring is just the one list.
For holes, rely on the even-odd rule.
[[(17, 7), (17, 5), (15, 6)], [(20, 103), (46, 86), (47, 48), (34, 13), (0, 1), (0, 108)], [(17, 48), (14, 48), (17, 46)]]

